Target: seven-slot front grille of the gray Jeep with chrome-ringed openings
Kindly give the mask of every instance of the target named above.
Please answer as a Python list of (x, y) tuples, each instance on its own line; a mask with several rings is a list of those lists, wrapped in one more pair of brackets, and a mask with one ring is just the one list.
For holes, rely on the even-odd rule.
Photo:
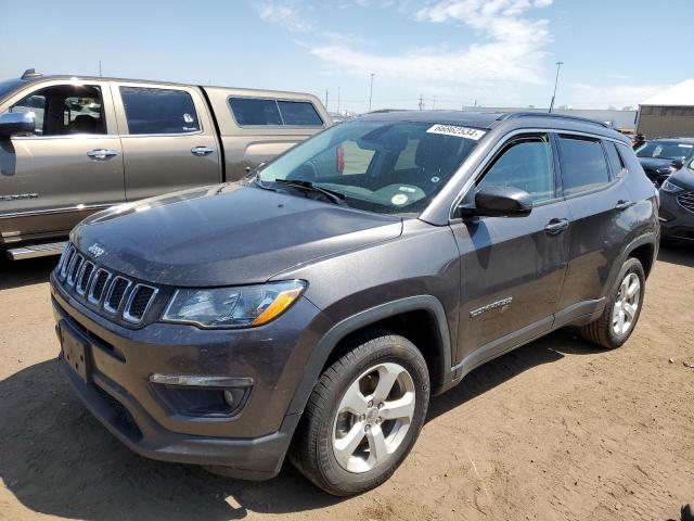
[(111, 318), (141, 323), (154, 302), (158, 289), (114, 274), (79, 253), (70, 243), (61, 256), (55, 276), (73, 296)]

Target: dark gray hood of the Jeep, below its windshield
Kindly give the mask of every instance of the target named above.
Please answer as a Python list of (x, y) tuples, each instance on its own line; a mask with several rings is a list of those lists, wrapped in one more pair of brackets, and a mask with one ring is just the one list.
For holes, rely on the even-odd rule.
[(87, 255), (179, 287), (266, 282), (288, 268), (400, 236), (400, 217), (240, 183), (188, 190), (94, 214), (73, 231)]

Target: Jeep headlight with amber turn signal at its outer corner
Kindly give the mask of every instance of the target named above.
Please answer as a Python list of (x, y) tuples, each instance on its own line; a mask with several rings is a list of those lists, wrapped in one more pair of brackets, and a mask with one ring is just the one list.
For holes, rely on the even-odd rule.
[(239, 288), (180, 289), (164, 312), (168, 322), (203, 328), (261, 326), (284, 313), (306, 288), (292, 280)]

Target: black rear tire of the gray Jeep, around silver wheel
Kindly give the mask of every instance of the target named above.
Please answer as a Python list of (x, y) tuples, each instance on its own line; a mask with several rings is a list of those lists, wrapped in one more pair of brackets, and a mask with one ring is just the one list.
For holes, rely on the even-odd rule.
[[(633, 312), (633, 315), (631, 316), (630, 326), (626, 328), (626, 330), (621, 330), (621, 332), (619, 332), (620, 328), (618, 328), (618, 326), (613, 322), (613, 319), (615, 318), (615, 306), (617, 302), (621, 300), (620, 289), (622, 287), (622, 283), (627, 281), (627, 279), (630, 279), (631, 281), (635, 280), (634, 277), (639, 281), (635, 312)], [(615, 350), (621, 346), (633, 332), (637, 322), (639, 321), (639, 317), (641, 316), (641, 308), (643, 307), (643, 296), (645, 294), (645, 279), (646, 278), (643, 271), (643, 266), (641, 266), (639, 259), (627, 259), (627, 262), (619, 270), (619, 276), (615, 281), (615, 285), (607, 296), (607, 303), (605, 304), (603, 314), (600, 316), (600, 318), (597, 318), (597, 320), (594, 320), (589, 325), (580, 328), (581, 335), (586, 340), (607, 350)], [(624, 305), (622, 308), (625, 308)], [(625, 320), (628, 320), (628, 315), (625, 315)]]

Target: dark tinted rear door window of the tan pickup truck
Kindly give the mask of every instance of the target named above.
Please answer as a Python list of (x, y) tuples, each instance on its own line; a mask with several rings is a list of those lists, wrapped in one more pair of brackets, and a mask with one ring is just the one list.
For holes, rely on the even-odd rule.
[(189, 134), (200, 130), (191, 94), (183, 90), (120, 87), (128, 131)]

